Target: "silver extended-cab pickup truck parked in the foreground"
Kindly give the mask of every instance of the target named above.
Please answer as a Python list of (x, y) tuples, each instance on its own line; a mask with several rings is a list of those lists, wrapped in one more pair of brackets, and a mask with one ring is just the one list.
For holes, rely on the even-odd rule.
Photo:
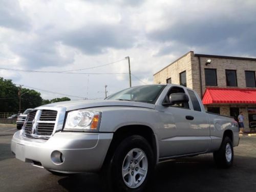
[(100, 172), (111, 191), (142, 191), (161, 161), (213, 153), (218, 166), (229, 167), (238, 144), (234, 119), (205, 112), (193, 90), (154, 84), (105, 100), (39, 106), (11, 150), (53, 174)]

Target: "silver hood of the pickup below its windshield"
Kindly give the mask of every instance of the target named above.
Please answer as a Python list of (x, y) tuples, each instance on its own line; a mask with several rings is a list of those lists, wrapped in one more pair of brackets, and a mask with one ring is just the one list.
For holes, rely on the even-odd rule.
[(117, 101), (117, 100), (77, 100), (77, 101), (63, 101), (42, 105), (44, 107), (65, 107), (67, 111), (95, 108), (98, 106), (135, 106), (139, 108), (155, 109), (155, 104), (142, 103), (134, 101)]

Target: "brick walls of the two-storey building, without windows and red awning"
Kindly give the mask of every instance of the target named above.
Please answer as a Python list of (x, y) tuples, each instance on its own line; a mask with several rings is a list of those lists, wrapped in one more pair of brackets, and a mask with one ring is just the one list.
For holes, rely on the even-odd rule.
[[(210, 65), (206, 66), (205, 62), (207, 59), (211, 59)], [(256, 61), (251, 60), (239, 60), (230, 58), (215, 58), (215, 57), (200, 57), (201, 61), (201, 76), (202, 76), (202, 93), (206, 90), (205, 86), (205, 75), (204, 69), (216, 69), (217, 70), (217, 83), (218, 88), (246, 88), (245, 71), (256, 71)], [(226, 86), (226, 73), (225, 70), (236, 70), (237, 71), (237, 82), (238, 87), (227, 87)], [(190, 51), (183, 55), (172, 64), (159, 71), (154, 75), (154, 83), (166, 83), (166, 79), (172, 78), (172, 83), (180, 84), (179, 74), (186, 71), (187, 88), (195, 90), (201, 97), (201, 86), (200, 86), (200, 74), (199, 74), (199, 57), (194, 56), (194, 52)], [(207, 86), (209, 87), (209, 86)], [(252, 88), (256, 89), (256, 88)], [(245, 120), (245, 129), (249, 131), (248, 121), (248, 107), (256, 108), (255, 105), (209, 105), (220, 107), (221, 115), (230, 115), (229, 108), (238, 107), (243, 112)], [(205, 106), (207, 110), (207, 106)]]

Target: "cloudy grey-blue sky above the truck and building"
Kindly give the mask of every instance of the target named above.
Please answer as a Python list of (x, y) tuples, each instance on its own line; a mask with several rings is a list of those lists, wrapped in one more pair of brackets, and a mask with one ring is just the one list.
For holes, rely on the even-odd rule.
[(0, 0), (0, 77), (44, 99), (103, 98), (105, 85), (108, 95), (129, 87), (126, 56), (133, 86), (188, 51), (256, 57), (255, 9), (255, 0)]

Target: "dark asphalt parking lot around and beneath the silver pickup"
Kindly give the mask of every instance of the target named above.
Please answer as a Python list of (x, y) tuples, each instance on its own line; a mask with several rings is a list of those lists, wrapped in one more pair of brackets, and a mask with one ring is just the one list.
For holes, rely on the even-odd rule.
[[(15, 159), (10, 151), (14, 126), (0, 126), (0, 191), (104, 191), (97, 174), (55, 176)], [(212, 155), (182, 158), (157, 166), (150, 191), (256, 191), (256, 136), (243, 135), (229, 169)]]

